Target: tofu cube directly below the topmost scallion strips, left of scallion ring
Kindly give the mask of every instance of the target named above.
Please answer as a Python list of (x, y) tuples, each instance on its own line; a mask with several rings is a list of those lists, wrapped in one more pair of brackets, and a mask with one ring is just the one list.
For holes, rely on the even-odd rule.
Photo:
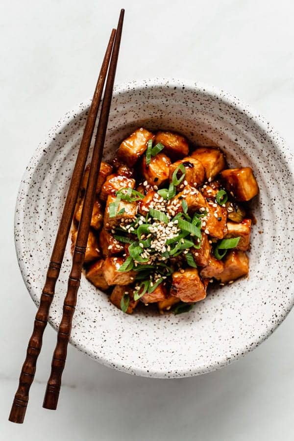
[(146, 156), (142, 157), (141, 172), (149, 185), (161, 187), (169, 180), (171, 160), (164, 153), (151, 156), (150, 164), (146, 164)]

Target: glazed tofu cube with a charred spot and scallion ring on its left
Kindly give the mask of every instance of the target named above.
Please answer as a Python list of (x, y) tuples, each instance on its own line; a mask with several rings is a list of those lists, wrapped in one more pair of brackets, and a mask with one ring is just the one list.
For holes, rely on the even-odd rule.
[[(173, 172), (180, 164), (183, 164), (186, 172), (184, 180), (179, 184), (180, 188), (182, 185), (184, 185), (184, 181), (187, 181), (188, 184), (192, 187), (198, 187), (198, 185), (202, 184), (202, 182), (204, 181), (203, 165), (200, 161), (192, 158), (191, 156), (186, 156), (185, 158), (180, 159), (179, 161), (176, 161), (171, 165), (169, 175), (170, 182), (172, 182)], [(182, 173), (179, 172), (179, 175), (181, 174)]]

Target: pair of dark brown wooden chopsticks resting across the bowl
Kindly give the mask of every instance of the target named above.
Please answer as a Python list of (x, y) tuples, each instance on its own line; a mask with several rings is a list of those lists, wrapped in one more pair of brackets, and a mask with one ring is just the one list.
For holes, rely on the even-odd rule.
[(70, 233), (74, 208), (83, 177), (86, 160), (89, 152), (91, 139), (97, 119), (98, 108), (102, 97), (105, 78), (106, 80), (104, 97), (100, 110), (97, 135), (93, 149), (90, 173), (88, 178), (85, 199), (79, 222), (76, 242), (73, 252), (73, 265), (68, 281), (68, 291), (64, 299), (63, 315), (58, 328), (57, 343), (51, 363), (51, 373), (47, 383), (43, 407), (55, 410), (61, 387), (62, 372), (65, 367), (67, 346), (70, 340), (73, 314), (76, 305), (77, 291), (80, 284), (82, 266), (84, 263), (88, 234), (90, 230), (91, 216), (95, 200), (96, 183), (101, 164), (102, 151), (105, 141), (106, 128), (108, 123), (110, 104), (113, 92), (114, 78), (120, 50), (120, 42), (123, 29), (124, 9), (121, 10), (117, 30), (113, 29), (109, 43), (104, 55), (103, 63), (98, 77), (92, 104), (88, 113), (83, 137), (77, 154), (73, 175), (68, 195), (63, 208), (60, 225), (58, 228), (55, 244), (53, 247), (51, 261), (47, 271), (47, 277), (41, 295), (40, 306), (37, 311), (34, 328), (28, 343), (25, 363), (19, 380), (19, 387), (15, 393), (9, 421), (23, 423), (28, 403), (30, 386), (34, 380), (36, 363), (41, 352), (43, 333), (49, 318), (49, 308), (54, 296), (55, 284), (59, 276), (65, 247)]

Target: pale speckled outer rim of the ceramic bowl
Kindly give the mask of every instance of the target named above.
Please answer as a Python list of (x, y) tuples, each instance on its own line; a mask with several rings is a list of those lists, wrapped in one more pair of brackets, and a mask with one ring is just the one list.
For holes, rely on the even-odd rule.
[[(147, 88), (156, 88), (156, 87), (184, 87), (185, 89), (190, 89), (193, 91), (199, 91), (202, 93), (205, 93), (212, 98), (220, 99), (222, 102), (225, 102), (226, 104), (233, 106), (238, 111), (245, 114), (247, 118), (250, 118), (254, 121), (263, 131), (265, 131), (268, 134), (268, 137), (274, 142), (275, 147), (279, 150), (280, 153), (283, 154), (284, 159), (287, 162), (287, 165), (289, 167), (290, 172), (292, 173), (293, 180), (294, 180), (294, 155), (290, 148), (286, 145), (284, 139), (280, 136), (280, 134), (273, 128), (273, 126), (268, 122), (268, 120), (260, 115), (259, 112), (254, 110), (251, 106), (243, 102), (243, 100), (235, 97), (231, 93), (228, 93), (222, 89), (219, 89), (215, 86), (209, 86), (203, 82), (191, 82), (189, 80), (185, 80), (182, 78), (163, 78), (163, 77), (154, 77), (150, 79), (142, 79), (142, 80), (133, 80), (128, 82), (123, 82), (121, 84), (116, 84), (114, 87), (113, 96), (124, 94), (126, 92), (129, 92), (130, 90), (140, 90), (140, 89), (147, 89)], [(28, 165), (26, 166), (25, 173), (22, 177), (21, 184), (18, 191), (18, 196), (16, 200), (16, 206), (15, 206), (15, 217), (14, 217), (14, 238), (15, 238), (15, 248), (16, 248), (16, 254), (18, 259), (18, 264), (25, 282), (25, 286), (34, 301), (35, 305), (39, 306), (39, 298), (41, 293), (34, 292), (34, 288), (32, 288), (29, 283), (27, 283), (27, 275), (25, 273), (25, 266), (22, 265), (21, 256), (24, 252), (24, 246), (23, 244), (25, 241), (17, 241), (16, 240), (16, 234), (20, 230), (20, 226), (24, 224), (24, 206), (25, 206), (25, 198), (21, 197), (22, 194), (27, 194), (27, 190), (29, 188), (29, 181), (30, 181), (30, 175), (34, 172), (36, 167), (38, 166), (39, 161), (42, 159), (43, 156), (43, 150), (44, 146), (48, 146), (49, 143), (52, 141), (53, 134), (57, 131), (61, 131), (63, 128), (66, 127), (66, 125), (70, 122), (71, 119), (73, 119), (73, 115), (76, 115), (77, 113), (80, 113), (81, 106), (88, 107), (91, 103), (91, 98), (85, 99), (84, 101), (80, 102), (79, 104), (75, 105), (71, 110), (67, 111), (59, 120), (58, 123), (56, 123), (54, 126), (52, 126), (47, 136), (43, 141), (41, 141), (38, 145), (38, 147), (34, 150), (34, 153), (32, 157), (30, 158)], [(264, 342), (272, 333), (273, 331), (282, 323), (282, 321), (287, 317), (289, 312), (291, 311), (294, 304), (294, 297), (292, 297), (292, 301), (289, 302), (288, 308), (285, 309), (285, 313), (281, 320), (277, 323), (274, 323), (270, 328), (267, 329), (266, 332), (259, 338), (257, 338), (254, 342), (252, 342), (252, 345), (250, 347), (245, 347), (244, 350), (238, 353), (238, 354), (231, 354), (230, 360), (222, 360), (218, 364), (215, 364), (214, 366), (207, 367), (204, 371), (199, 371), (199, 368), (194, 368), (192, 370), (186, 368), (178, 371), (177, 377), (188, 377), (188, 376), (194, 376), (198, 375), (200, 373), (207, 373), (213, 370), (217, 370), (219, 368), (222, 368), (232, 361), (238, 360), (242, 356), (244, 356), (246, 353), (251, 352), (253, 349), (255, 349), (260, 343)], [(57, 323), (55, 320), (49, 319), (49, 324), (55, 329), (58, 329), (59, 323)], [(82, 344), (79, 344), (77, 340), (74, 340), (72, 337), (70, 339), (70, 343), (75, 346), (78, 350), (80, 350), (83, 353), (86, 353), (91, 358), (94, 358), (92, 355), (92, 351), (88, 348), (84, 347)], [(97, 354), (94, 358), (96, 361), (101, 363), (104, 366), (108, 366), (110, 368), (114, 368), (114, 363), (112, 360), (108, 360), (106, 358), (103, 358), (102, 356), (97, 357)], [(135, 362), (135, 360), (134, 360)], [(140, 376), (148, 376), (148, 377), (157, 377), (157, 378), (166, 378), (166, 374), (168, 370), (164, 371), (163, 369), (160, 372), (152, 371), (152, 369), (142, 369), (139, 368), (134, 364), (128, 366), (124, 363), (119, 363), (118, 360), (115, 361), (115, 369), (121, 370), (123, 372), (132, 373), (135, 375)], [(171, 371), (169, 370), (169, 373)]]

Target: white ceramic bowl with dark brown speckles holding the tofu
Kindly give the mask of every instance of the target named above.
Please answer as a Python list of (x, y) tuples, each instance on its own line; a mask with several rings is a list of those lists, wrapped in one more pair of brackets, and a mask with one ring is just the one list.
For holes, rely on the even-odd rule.
[[(27, 289), (38, 305), (89, 100), (68, 112), (36, 149), (21, 183), (15, 242)], [(123, 314), (83, 276), (71, 343), (100, 363), (150, 377), (184, 377), (221, 368), (264, 341), (293, 306), (293, 157), (259, 114), (203, 84), (153, 79), (117, 86), (105, 157), (138, 126), (182, 132), (199, 145), (218, 145), (232, 166), (253, 168), (260, 196), (253, 203), (250, 273), (211, 289), (179, 316)], [(57, 328), (71, 268), (66, 250), (50, 323)]]

